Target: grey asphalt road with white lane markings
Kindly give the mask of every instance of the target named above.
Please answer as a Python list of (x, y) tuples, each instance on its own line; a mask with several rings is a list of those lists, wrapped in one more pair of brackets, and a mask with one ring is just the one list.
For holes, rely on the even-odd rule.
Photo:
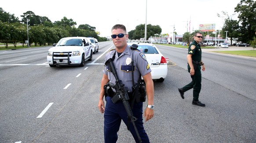
[[(0, 51), (0, 143), (104, 143), (97, 107), (105, 52), (84, 67), (50, 68), (50, 48)], [(113, 47), (112, 47), (113, 48)], [(191, 81), (187, 50), (158, 46), (170, 59), (164, 82), (154, 82), (154, 118), (144, 123), (151, 143), (255, 143), (255, 58), (203, 50), (199, 99), (178, 88)], [(146, 107), (146, 103), (144, 104)], [(133, 143), (122, 123), (118, 143)]]

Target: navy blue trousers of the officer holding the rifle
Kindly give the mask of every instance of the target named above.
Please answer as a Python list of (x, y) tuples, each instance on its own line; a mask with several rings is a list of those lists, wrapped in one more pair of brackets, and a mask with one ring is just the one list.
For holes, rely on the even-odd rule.
[[(135, 125), (143, 143), (149, 143), (149, 138), (143, 127), (143, 103), (135, 103), (132, 109), (133, 116), (137, 118)], [(119, 131), (121, 120), (127, 125), (128, 117), (122, 101), (113, 104), (111, 97), (106, 97), (106, 107), (104, 112), (104, 139), (105, 143), (116, 143), (117, 132)], [(138, 137), (132, 122), (129, 123), (129, 130), (132, 133), (136, 143), (139, 143)]]

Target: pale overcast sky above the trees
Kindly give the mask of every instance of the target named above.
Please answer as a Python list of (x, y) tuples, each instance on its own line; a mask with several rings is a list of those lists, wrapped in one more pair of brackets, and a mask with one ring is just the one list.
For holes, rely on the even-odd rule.
[(240, 0), (2, 0), (0, 7), (20, 20), (26, 11), (46, 16), (51, 22), (65, 16), (77, 22), (76, 27), (91, 25), (105, 37), (111, 35), (115, 24), (125, 25), (129, 32), (146, 22), (159, 25), (161, 34), (173, 32), (175, 25), (178, 35), (197, 30), (199, 24), (216, 24), (216, 29), (221, 29), (224, 20), (217, 13), (234, 14), (238, 3)]

